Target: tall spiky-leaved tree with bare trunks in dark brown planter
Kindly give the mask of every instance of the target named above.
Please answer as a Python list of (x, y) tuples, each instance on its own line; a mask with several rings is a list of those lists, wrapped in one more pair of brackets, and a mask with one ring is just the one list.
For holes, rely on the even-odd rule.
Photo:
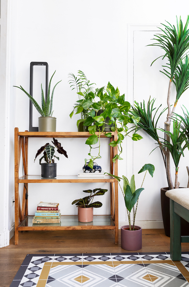
[[(168, 189), (179, 188), (178, 181), (178, 164), (181, 155), (184, 156), (184, 149), (188, 147), (188, 136), (187, 127), (184, 126), (183, 119), (187, 118), (186, 114), (184, 117), (176, 115), (175, 109), (181, 95), (189, 87), (189, 59), (187, 51), (189, 49), (189, 16), (187, 17), (186, 24), (183, 26), (181, 18), (177, 19), (177, 26), (172, 26), (167, 22), (167, 24), (162, 24), (164, 29), (161, 29), (159, 34), (154, 35), (155, 43), (149, 46), (159, 46), (163, 49), (164, 53), (163, 59), (166, 58), (168, 63), (163, 67), (161, 71), (164, 75), (169, 78), (169, 87), (167, 94), (167, 108), (165, 108), (158, 116), (167, 110), (167, 117), (165, 119), (165, 138), (161, 139), (157, 133), (157, 121), (155, 122), (155, 116), (158, 109), (156, 109), (155, 115), (153, 115), (153, 110), (155, 108), (154, 99), (149, 100), (147, 104), (147, 109), (145, 103), (138, 104), (135, 102), (132, 113), (135, 116), (140, 117), (138, 123), (139, 128), (146, 131), (159, 145), (161, 154), (163, 157), (163, 162), (167, 174), (168, 187), (161, 189), (161, 205), (163, 214), (163, 223), (165, 228), (165, 234), (170, 236), (170, 219), (169, 219), (169, 199), (165, 196), (165, 192)], [(158, 58), (160, 58), (158, 57)], [(157, 59), (158, 59), (157, 58)], [(155, 59), (154, 61), (156, 61)], [(154, 62), (153, 61), (153, 62)], [(153, 63), (152, 63), (153, 64)], [(174, 103), (170, 102), (172, 83), (176, 86), (176, 98)], [(177, 119), (179, 116), (179, 119)], [(182, 119), (183, 118), (183, 119)], [(170, 131), (171, 123), (173, 123), (173, 131)], [(162, 129), (161, 129), (162, 130)], [(171, 166), (170, 166), (170, 155), (172, 156), (175, 164), (175, 183), (173, 184), (171, 176)], [(168, 222), (166, 222), (166, 220)], [(184, 235), (184, 234), (183, 234)]]

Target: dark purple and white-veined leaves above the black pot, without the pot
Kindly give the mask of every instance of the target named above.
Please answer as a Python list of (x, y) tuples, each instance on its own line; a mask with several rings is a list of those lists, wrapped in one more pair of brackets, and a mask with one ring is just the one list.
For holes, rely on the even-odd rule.
[[(51, 146), (49, 143), (46, 143), (44, 146), (42, 146), (36, 153), (36, 157), (41, 154), (43, 151), (43, 156), (42, 158), (40, 158), (39, 160), (39, 164), (41, 164), (42, 159), (44, 159), (44, 161), (48, 164), (48, 163), (54, 163), (54, 159), (56, 158), (57, 160), (59, 160), (58, 156), (55, 156), (55, 150), (54, 148), (57, 148), (57, 152), (59, 154), (63, 154), (66, 158), (68, 158), (67, 156), (67, 152), (63, 149), (63, 147), (61, 146), (61, 143), (59, 143), (57, 141), (57, 139), (55, 139), (53, 137), (53, 141), (52, 143), (54, 144), (54, 146)], [(34, 159), (34, 162), (36, 160), (36, 157)]]

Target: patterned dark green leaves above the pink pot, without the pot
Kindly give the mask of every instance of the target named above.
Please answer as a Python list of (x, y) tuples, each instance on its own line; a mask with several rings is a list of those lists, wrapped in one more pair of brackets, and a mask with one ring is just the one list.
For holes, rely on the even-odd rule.
[(104, 195), (104, 193), (108, 191), (108, 189), (102, 189), (102, 188), (96, 188), (96, 189), (87, 189), (83, 190), (83, 192), (90, 193), (88, 196), (85, 196), (80, 199), (76, 199), (72, 202), (72, 204), (75, 204), (79, 207), (82, 208), (89, 208), (89, 207), (94, 207), (98, 208), (102, 206), (102, 202), (100, 201), (95, 201), (93, 202), (94, 196), (96, 195)]

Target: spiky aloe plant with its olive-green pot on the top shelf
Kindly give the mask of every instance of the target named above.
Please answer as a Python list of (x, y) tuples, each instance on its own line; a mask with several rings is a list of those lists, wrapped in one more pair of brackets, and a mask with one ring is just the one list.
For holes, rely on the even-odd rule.
[[(52, 77), (53, 76), (54, 76), (54, 74), (52, 75)], [(42, 84), (41, 84), (41, 104), (42, 104), (42, 108), (38, 105), (36, 100), (30, 94), (28, 94), (24, 90), (24, 88), (22, 88), (22, 86), (20, 86), (20, 87), (14, 86), (14, 87), (19, 88), (20, 90), (22, 90), (30, 98), (30, 100), (34, 104), (36, 110), (40, 113), (41, 117), (38, 118), (39, 131), (44, 131), (44, 132), (45, 131), (51, 131), (51, 132), (56, 131), (56, 118), (52, 117), (52, 114), (54, 112), (54, 111), (52, 111), (52, 100), (53, 100), (54, 89), (55, 89), (56, 85), (58, 83), (60, 83), (61, 81), (56, 83), (56, 85), (54, 86), (54, 88), (52, 90), (52, 94), (51, 94), (51, 97), (50, 97), (50, 84), (51, 84), (52, 77), (51, 77), (50, 82), (49, 82), (48, 93), (47, 93), (47, 100), (46, 101), (45, 101), (45, 98), (44, 98), (44, 92), (43, 92)]]

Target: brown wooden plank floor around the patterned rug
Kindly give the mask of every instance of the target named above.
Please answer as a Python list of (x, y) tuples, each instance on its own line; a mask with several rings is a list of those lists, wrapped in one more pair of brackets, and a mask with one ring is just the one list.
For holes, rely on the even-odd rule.
[[(170, 238), (164, 229), (143, 229), (142, 249), (139, 252), (169, 251)], [(19, 232), (19, 245), (0, 249), (0, 287), (9, 287), (27, 254), (51, 253), (117, 253), (131, 252), (114, 244), (113, 230), (63, 230)], [(189, 251), (189, 243), (182, 243), (182, 251)]]

